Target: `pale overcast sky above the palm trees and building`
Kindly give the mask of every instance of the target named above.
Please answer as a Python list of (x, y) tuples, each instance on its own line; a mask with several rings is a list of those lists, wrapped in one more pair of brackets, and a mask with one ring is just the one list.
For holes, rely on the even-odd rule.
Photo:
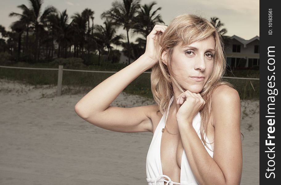
[[(0, 0), (0, 25), (6, 30), (10, 30), (10, 24), (18, 18), (9, 17), (11, 12), (22, 13), (18, 5), (25, 4), (29, 6), (28, 0)], [(81, 13), (85, 8), (89, 8), (95, 12), (94, 24), (103, 25), (104, 20), (100, 18), (100, 14), (112, 7), (112, 2), (116, 0), (44, 0), (43, 9), (47, 6), (55, 6), (60, 12), (67, 9), (67, 14), (71, 17), (74, 13)], [(121, 2), (121, 0), (117, 0)], [(259, 36), (259, 0), (154, 0), (157, 4), (153, 6), (153, 10), (161, 7), (157, 14), (161, 14), (165, 25), (169, 25), (170, 21), (177, 15), (182, 13), (199, 14), (202, 17), (210, 19), (210, 17), (218, 17), (224, 28), (227, 29), (225, 35), (237, 35), (243, 39), (249, 40), (256, 35)], [(141, 5), (151, 3), (151, 0), (141, 0)], [(117, 34), (126, 32), (120, 27)], [(139, 35), (129, 33), (129, 39), (134, 41)]]

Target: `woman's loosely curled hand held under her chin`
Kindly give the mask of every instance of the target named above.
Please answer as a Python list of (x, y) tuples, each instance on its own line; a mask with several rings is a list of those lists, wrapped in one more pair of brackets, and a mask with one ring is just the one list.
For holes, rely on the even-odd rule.
[(203, 108), (205, 101), (200, 93), (193, 93), (189, 90), (181, 93), (177, 100), (177, 121), (190, 121)]

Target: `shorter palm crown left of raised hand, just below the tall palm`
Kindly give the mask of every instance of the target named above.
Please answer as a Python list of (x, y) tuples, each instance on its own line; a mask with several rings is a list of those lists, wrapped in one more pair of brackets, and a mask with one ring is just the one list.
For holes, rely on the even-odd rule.
[(110, 54), (110, 51), (112, 50), (112, 44), (119, 46), (122, 44), (120, 39), (124, 39), (124, 35), (116, 35), (116, 26), (112, 22), (111, 19), (106, 19), (104, 22), (104, 27), (101, 25), (96, 26), (96, 36), (99, 37), (104, 42), (104, 47), (107, 48), (108, 54), (107, 54), (107, 60)]

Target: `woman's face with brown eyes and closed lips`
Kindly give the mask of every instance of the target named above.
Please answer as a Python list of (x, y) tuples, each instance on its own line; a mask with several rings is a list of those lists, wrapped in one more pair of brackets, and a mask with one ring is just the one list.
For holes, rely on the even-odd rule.
[(188, 46), (174, 47), (171, 67), (184, 91), (199, 93), (213, 71), (215, 40), (213, 36)]

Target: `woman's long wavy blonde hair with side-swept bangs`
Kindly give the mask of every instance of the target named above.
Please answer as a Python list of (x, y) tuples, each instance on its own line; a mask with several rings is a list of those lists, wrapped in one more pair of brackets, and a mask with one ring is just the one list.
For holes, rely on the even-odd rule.
[[(158, 49), (158, 51), (160, 51), (158, 53), (159, 61), (155, 66), (153, 66), (150, 77), (151, 91), (153, 93), (153, 98), (158, 105), (158, 112), (161, 112), (164, 115), (168, 109), (169, 100), (173, 96), (172, 82), (180, 89), (181, 92), (184, 92), (172, 72), (171, 58), (173, 48), (177, 46), (177, 44), (182, 43), (183, 45), (189, 45), (190, 43), (206, 39), (211, 35), (215, 40), (216, 53), (214, 55), (214, 68), (208, 81), (200, 92), (202, 98), (206, 102), (200, 110), (200, 131), (204, 145), (206, 145), (206, 139), (203, 136), (207, 132), (207, 123), (211, 112), (211, 98), (214, 90), (218, 86), (224, 84), (233, 88), (232, 84), (222, 80), (222, 76), (226, 70), (226, 60), (223, 51), (224, 45), (222, 43), (222, 38), (216, 28), (206, 18), (202, 18), (198, 15), (181, 14), (176, 16), (166, 28), (165, 32), (158, 35), (158, 43), (162, 48), (161, 50), (160, 48)], [(163, 63), (163, 59), (161, 58), (164, 50), (167, 51), (167, 65)]]

